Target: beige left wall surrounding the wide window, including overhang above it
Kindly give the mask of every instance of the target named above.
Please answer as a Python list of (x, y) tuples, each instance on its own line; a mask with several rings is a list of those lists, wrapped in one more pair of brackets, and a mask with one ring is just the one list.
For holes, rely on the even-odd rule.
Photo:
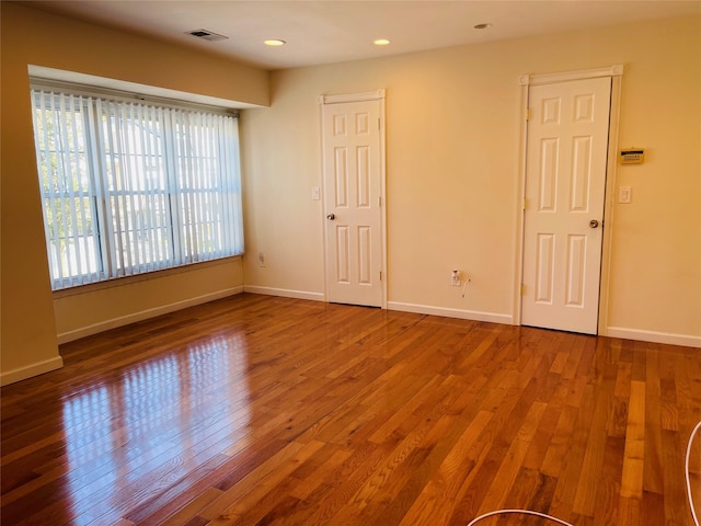
[[(168, 271), (152, 279), (50, 290), (38, 198), (27, 66), (268, 103), (268, 73), (230, 60), (2, 2), (1, 364), (3, 384), (60, 367), (57, 334), (81, 335), (242, 287), (242, 263)], [(55, 317), (56, 315), (56, 317)]]

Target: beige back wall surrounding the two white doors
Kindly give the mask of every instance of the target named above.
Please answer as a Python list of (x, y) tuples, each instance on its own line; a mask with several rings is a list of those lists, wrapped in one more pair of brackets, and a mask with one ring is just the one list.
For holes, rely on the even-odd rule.
[[(633, 201), (608, 218), (600, 332), (701, 346), (699, 18), (275, 72), (272, 106), (245, 116), (246, 287), (323, 295), (317, 96), (384, 88), (390, 308), (517, 322), (518, 78), (614, 64), (619, 145), (647, 162), (616, 175)], [(464, 298), (452, 268), (472, 278)]]

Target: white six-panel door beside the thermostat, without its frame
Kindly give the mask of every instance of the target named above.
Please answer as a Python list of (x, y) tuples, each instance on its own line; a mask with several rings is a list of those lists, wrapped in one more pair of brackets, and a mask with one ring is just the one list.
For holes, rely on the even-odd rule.
[(521, 323), (597, 333), (611, 79), (535, 85)]

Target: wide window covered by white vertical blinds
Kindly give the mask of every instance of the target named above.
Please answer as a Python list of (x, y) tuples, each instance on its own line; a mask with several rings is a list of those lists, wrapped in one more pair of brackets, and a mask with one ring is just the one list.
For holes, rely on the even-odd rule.
[(32, 88), (53, 288), (243, 253), (238, 118)]

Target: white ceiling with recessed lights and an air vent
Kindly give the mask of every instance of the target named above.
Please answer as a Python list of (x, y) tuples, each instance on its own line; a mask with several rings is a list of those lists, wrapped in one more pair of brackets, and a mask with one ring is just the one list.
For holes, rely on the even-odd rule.
[[(701, 14), (701, 0), (232, 1), (42, 0), (23, 2), (95, 24), (283, 69), (536, 34)], [(487, 30), (474, 25), (491, 23)], [(229, 38), (208, 42), (186, 32)], [(272, 48), (266, 38), (287, 45)], [(378, 47), (376, 38), (391, 44)]]

